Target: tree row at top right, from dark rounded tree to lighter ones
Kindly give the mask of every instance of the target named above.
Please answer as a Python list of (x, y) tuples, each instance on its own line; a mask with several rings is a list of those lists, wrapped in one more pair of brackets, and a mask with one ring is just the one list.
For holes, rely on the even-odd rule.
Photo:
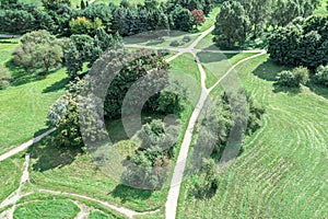
[(318, 0), (225, 1), (216, 16), (214, 42), (223, 47), (242, 45), (265, 30), (285, 26), (297, 16), (309, 16), (318, 5)]

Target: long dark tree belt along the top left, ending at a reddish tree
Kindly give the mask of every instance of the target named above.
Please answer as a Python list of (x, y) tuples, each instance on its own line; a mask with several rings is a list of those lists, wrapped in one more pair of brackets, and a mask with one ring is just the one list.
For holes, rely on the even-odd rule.
[[(122, 0), (120, 5), (86, 5), (81, 2), (81, 9), (72, 9), (69, 0), (43, 0), (44, 8), (19, 0), (3, 0), (0, 4), (0, 28), (9, 33), (47, 30), (63, 36), (93, 36), (97, 27), (103, 27), (107, 33), (118, 32), (120, 35), (168, 28), (190, 31), (195, 25), (203, 23), (203, 13), (209, 13), (211, 2), (172, 0), (159, 3), (156, 0), (145, 0), (143, 4), (136, 7)], [(192, 10), (197, 11), (191, 13)]]

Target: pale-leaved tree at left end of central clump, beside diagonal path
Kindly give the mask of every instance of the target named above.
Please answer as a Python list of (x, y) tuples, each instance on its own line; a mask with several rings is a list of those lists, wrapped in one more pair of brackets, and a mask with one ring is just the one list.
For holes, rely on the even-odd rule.
[[(56, 124), (52, 143), (57, 147), (82, 148), (87, 143), (104, 140), (107, 131), (99, 120), (99, 112), (95, 111), (96, 104), (85, 101), (81, 91), (85, 85), (84, 80), (77, 80), (69, 84), (69, 91), (61, 101), (58, 101), (49, 111), (49, 122)], [(82, 138), (82, 131), (84, 137)]]

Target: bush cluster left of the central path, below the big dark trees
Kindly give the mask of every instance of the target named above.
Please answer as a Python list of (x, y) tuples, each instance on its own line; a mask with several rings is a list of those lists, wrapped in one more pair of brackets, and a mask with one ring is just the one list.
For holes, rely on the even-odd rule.
[(130, 186), (160, 189), (167, 176), (177, 136), (174, 127), (165, 127), (160, 119), (143, 125), (138, 134), (141, 148), (129, 159), (131, 164), (124, 173), (122, 181)]

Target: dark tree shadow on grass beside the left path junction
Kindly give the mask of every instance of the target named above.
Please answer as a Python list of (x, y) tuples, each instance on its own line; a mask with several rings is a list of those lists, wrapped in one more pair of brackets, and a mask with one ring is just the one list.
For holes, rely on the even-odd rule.
[(55, 168), (63, 168), (71, 164), (78, 154), (79, 148), (60, 148), (51, 143), (51, 137), (45, 137), (42, 141), (28, 148), (31, 159), (35, 159), (32, 165), (34, 171), (44, 172)]

